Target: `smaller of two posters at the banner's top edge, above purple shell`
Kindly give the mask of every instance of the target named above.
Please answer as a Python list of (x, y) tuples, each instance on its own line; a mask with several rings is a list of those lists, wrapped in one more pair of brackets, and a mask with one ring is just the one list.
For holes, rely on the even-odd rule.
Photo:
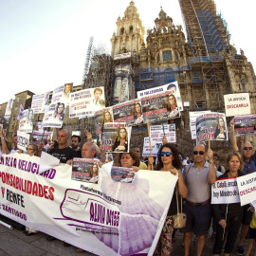
[(135, 172), (133, 168), (112, 166), (111, 177), (116, 182), (132, 183)]

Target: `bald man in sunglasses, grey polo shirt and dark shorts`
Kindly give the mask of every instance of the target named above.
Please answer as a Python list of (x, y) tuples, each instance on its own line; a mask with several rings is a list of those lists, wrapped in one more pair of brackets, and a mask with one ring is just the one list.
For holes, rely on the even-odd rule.
[[(209, 157), (209, 162), (206, 157)], [(184, 202), (184, 212), (187, 214), (184, 233), (185, 256), (189, 256), (192, 242), (192, 232), (197, 236), (197, 255), (201, 255), (205, 246), (205, 235), (210, 228), (211, 205), (210, 188), (216, 181), (216, 170), (213, 164), (213, 152), (199, 144), (193, 149), (194, 163), (187, 165), (184, 171), (184, 181), (188, 187), (188, 195)]]

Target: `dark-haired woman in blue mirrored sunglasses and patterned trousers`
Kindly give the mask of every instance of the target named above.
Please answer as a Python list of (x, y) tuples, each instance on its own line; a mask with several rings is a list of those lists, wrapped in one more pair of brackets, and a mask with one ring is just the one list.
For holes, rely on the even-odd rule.
[[(188, 189), (185, 185), (183, 176), (181, 174), (181, 161), (179, 159), (179, 153), (171, 143), (162, 145), (157, 154), (157, 164), (155, 166), (156, 171), (170, 172), (178, 177), (177, 189), (183, 198), (187, 196)], [(152, 156), (149, 157), (149, 166), (154, 162)], [(155, 248), (155, 255), (170, 255), (174, 251), (172, 243), (172, 235), (174, 231), (174, 215), (177, 213), (176, 196), (174, 192), (173, 199), (170, 204), (170, 208), (167, 213), (166, 221), (162, 229), (158, 244)]]

